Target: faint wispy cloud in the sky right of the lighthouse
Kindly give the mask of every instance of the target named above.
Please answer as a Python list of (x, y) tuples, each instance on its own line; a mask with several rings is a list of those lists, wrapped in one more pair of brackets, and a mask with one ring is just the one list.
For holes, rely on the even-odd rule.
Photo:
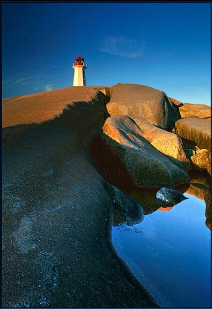
[(99, 48), (110, 55), (136, 58), (143, 52), (143, 44), (126, 36), (106, 36)]

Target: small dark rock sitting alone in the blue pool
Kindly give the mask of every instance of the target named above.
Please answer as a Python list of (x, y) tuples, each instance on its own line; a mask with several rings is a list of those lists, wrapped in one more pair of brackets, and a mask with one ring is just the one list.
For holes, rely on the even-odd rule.
[(185, 197), (180, 191), (169, 189), (167, 187), (162, 187), (161, 190), (156, 193), (156, 198), (158, 198), (160, 201), (173, 205), (176, 205), (187, 199), (187, 197)]

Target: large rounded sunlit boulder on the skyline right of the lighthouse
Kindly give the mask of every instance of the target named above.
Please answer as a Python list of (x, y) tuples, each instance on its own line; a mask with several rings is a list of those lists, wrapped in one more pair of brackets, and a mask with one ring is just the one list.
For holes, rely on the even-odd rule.
[(166, 130), (180, 119), (163, 91), (139, 84), (117, 84), (111, 87), (110, 95), (107, 108), (111, 116), (141, 116)]

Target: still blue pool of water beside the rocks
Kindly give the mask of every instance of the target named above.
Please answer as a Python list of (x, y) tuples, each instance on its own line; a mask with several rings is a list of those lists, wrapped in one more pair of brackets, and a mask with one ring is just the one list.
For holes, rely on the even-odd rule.
[(139, 224), (113, 227), (119, 256), (159, 306), (211, 308), (211, 231), (196, 196), (159, 207)]

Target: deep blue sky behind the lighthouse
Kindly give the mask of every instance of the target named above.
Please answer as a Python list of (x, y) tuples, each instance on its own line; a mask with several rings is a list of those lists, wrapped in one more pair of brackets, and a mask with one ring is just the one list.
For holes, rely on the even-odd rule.
[(73, 85), (143, 84), (211, 104), (211, 3), (1, 2), (3, 98)]

